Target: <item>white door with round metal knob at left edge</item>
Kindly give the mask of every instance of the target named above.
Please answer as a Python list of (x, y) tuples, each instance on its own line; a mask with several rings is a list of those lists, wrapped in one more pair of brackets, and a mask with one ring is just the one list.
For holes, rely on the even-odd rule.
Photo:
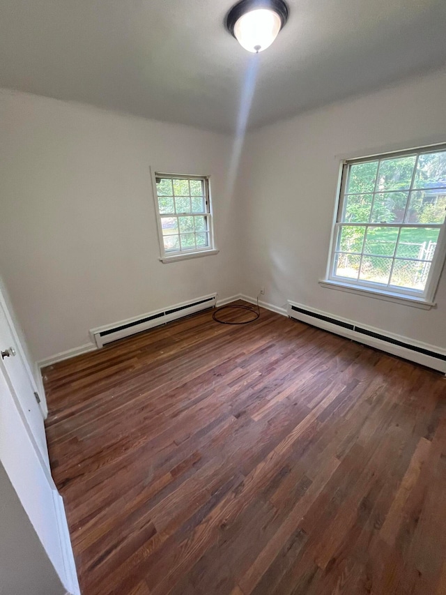
[(24, 418), (36, 440), (45, 462), (48, 462), (47, 440), (43, 412), (38, 405), (31, 379), (22, 359), (20, 347), (16, 344), (13, 331), (0, 302), (0, 352), (1, 365), (10, 390), (15, 394)]

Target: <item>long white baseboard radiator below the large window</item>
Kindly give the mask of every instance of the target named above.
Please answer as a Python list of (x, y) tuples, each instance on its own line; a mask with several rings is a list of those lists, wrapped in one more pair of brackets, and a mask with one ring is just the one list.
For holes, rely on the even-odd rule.
[(370, 347), (381, 349), (422, 366), (433, 368), (446, 374), (446, 349), (427, 345), (407, 337), (386, 333), (371, 326), (364, 326), (352, 320), (338, 318), (328, 312), (309, 308), (293, 301), (288, 302), (288, 315), (307, 322), (320, 329), (336, 333)]

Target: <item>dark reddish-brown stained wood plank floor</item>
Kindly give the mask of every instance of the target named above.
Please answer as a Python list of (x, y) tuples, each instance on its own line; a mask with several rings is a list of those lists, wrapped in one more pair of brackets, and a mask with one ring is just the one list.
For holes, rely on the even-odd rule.
[(84, 595), (446, 593), (436, 372), (261, 310), (44, 376)]

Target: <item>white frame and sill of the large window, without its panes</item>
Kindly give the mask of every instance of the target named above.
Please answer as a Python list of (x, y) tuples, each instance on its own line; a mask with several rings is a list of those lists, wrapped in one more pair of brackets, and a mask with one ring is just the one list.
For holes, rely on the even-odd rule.
[[(343, 291), (360, 294), (360, 295), (367, 295), (371, 297), (375, 297), (378, 299), (384, 299), (386, 301), (393, 301), (397, 303), (404, 304), (406, 306), (417, 306), (418, 308), (430, 309), (433, 306), (436, 306), (434, 302), (436, 291), (438, 289), (438, 284), (440, 283), (440, 276), (443, 271), (443, 267), (445, 266), (445, 259), (446, 259), (446, 220), (442, 224), (416, 224), (416, 223), (345, 223), (343, 221), (344, 218), (344, 210), (345, 210), (345, 203), (346, 203), (346, 194), (345, 190), (347, 187), (348, 182), (348, 174), (350, 171), (351, 165), (356, 165), (357, 163), (366, 163), (369, 161), (376, 161), (376, 160), (385, 160), (389, 158), (398, 158), (403, 156), (416, 156), (415, 160), (415, 167), (413, 171), (413, 178), (410, 183), (410, 190), (408, 191), (409, 199), (410, 200), (410, 191), (413, 190), (413, 183), (415, 179), (415, 172), (417, 168), (417, 160), (423, 153), (433, 153), (435, 151), (445, 151), (446, 144), (436, 144), (431, 146), (423, 146), (417, 149), (408, 149), (406, 151), (392, 151), (389, 153), (380, 153), (373, 156), (368, 156), (364, 158), (356, 158), (356, 159), (346, 159), (341, 162), (340, 167), (340, 179), (338, 184), (338, 193), (337, 193), (337, 202), (336, 208), (334, 209), (334, 219), (332, 224), (332, 236), (330, 241), (330, 250), (328, 255), (328, 264), (327, 264), (327, 271), (325, 275), (325, 279), (319, 281), (320, 285), (323, 287), (330, 287), (332, 289), (341, 289)], [(379, 164), (378, 164), (379, 168)], [(377, 177), (378, 179), (378, 177)], [(374, 188), (374, 195), (377, 193), (378, 190), (375, 186)], [(406, 205), (406, 210), (408, 209), (408, 204)], [(372, 204), (373, 208), (373, 204)], [(380, 283), (374, 283), (371, 281), (360, 280), (360, 279), (351, 279), (346, 277), (337, 276), (334, 274), (334, 267), (336, 262), (336, 253), (337, 253), (337, 241), (338, 235), (342, 225), (348, 226), (358, 226), (358, 227), (399, 227), (400, 231), (404, 227), (435, 227), (440, 229), (440, 234), (438, 236), (438, 242), (436, 246), (435, 254), (433, 255), (433, 259), (431, 262), (431, 268), (429, 270), (429, 275), (426, 280), (426, 285), (424, 287), (424, 291), (417, 290), (417, 289), (408, 289), (403, 287), (395, 287), (395, 286), (385, 286), (381, 285)], [(399, 236), (397, 239), (397, 246), (395, 248), (395, 253), (399, 243)], [(365, 242), (365, 239), (364, 239)], [(363, 245), (364, 248), (364, 245)], [(363, 253), (363, 250), (362, 250)], [(394, 265), (394, 260), (392, 262), (392, 267)], [(392, 274), (392, 271), (391, 273)]]

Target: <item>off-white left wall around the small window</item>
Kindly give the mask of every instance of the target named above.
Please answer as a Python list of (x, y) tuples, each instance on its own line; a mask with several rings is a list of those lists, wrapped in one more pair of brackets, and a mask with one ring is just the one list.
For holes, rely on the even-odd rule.
[[(225, 135), (0, 91), (0, 271), (33, 359), (89, 329), (239, 292)], [(220, 254), (162, 264), (149, 166), (208, 174)]]

